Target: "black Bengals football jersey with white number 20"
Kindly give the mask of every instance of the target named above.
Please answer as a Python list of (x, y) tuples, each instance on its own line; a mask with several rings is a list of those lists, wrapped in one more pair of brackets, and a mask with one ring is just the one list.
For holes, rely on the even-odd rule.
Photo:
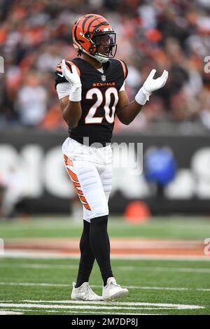
[[(127, 66), (120, 59), (109, 59), (103, 64), (102, 73), (80, 57), (66, 60), (66, 65), (70, 67), (71, 64), (80, 71), (82, 115), (78, 126), (69, 128), (69, 137), (81, 144), (105, 146), (111, 143), (118, 92), (127, 78)], [(66, 82), (60, 67), (59, 64), (55, 71), (55, 88), (58, 83)]]

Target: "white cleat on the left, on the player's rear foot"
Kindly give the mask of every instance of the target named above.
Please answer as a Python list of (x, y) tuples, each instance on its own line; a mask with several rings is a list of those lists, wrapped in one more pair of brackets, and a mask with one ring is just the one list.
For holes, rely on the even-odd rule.
[(76, 283), (73, 282), (72, 284), (73, 289), (71, 293), (71, 300), (104, 300), (102, 296), (97, 295), (94, 293), (92, 288), (90, 288), (88, 282), (84, 282), (80, 287), (75, 288)]

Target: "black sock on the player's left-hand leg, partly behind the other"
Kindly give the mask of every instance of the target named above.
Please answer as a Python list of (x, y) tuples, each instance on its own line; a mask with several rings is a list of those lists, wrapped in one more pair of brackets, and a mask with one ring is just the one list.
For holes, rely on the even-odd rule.
[(90, 223), (83, 221), (83, 225), (83, 234), (80, 238), (80, 265), (75, 288), (78, 288), (84, 282), (89, 281), (94, 263), (94, 253), (90, 246)]

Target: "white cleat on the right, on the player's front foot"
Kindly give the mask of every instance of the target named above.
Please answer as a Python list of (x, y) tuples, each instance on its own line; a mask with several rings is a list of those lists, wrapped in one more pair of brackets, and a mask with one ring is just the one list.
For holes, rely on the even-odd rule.
[(127, 294), (127, 288), (120, 287), (120, 285), (116, 283), (116, 279), (110, 277), (106, 282), (106, 286), (103, 287), (102, 297), (105, 301), (116, 300), (118, 298), (126, 296)]

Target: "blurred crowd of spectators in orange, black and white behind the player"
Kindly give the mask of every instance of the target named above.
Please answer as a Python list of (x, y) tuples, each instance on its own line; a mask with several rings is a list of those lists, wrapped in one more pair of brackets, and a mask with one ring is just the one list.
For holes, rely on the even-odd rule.
[(210, 129), (209, 0), (0, 0), (0, 127), (66, 127), (54, 71), (62, 58), (77, 56), (71, 28), (85, 13), (104, 15), (115, 29), (116, 57), (129, 69), (130, 100), (151, 69), (157, 76), (169, 71), (167, 85), (137, 120), (117, 123), (116, 130), (157, 121), (200, 122)]

